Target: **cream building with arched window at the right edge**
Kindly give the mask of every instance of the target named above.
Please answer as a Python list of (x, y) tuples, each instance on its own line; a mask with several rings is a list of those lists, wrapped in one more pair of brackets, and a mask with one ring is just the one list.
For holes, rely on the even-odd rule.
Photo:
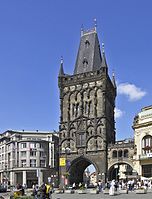
[(134, 118), (134, 170), (139, 176), (152, 177), (152, 106), (144, 107)]

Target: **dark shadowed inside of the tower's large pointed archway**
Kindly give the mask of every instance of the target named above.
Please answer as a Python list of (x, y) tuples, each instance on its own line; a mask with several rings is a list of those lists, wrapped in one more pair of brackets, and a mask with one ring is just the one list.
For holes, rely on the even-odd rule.
[(88, 158), (80, 156), (74, 159), (69, 168), (69, 184), (88, 183), (89, 176), (86, 176), (85, 170), (90, 165), (94, 166), (96, 174), (99, 173), (97, 166)]

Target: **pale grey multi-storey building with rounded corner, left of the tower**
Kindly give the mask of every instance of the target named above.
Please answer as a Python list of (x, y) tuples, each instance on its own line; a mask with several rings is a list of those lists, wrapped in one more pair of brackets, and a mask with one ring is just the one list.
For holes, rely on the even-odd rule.
[(58, 136), (8, 130), (0, 135), (0, 182), (41, 185), (58, 178)]

